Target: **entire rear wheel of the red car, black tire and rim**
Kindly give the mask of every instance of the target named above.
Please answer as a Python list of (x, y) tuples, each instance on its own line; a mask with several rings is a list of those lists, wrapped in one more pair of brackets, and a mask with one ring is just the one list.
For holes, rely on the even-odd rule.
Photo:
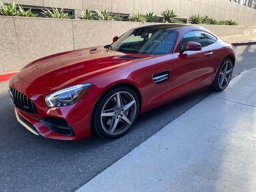
[[(228, 64), (226, 68), (226, 72), (228, 72), (228, 74), (225, 74), (226, 72), (224, 71), (226, 64)], [(220, 67), (216, 73), (216, 76), (210, 88), (214, 91), (223, 91), (224, 89), (226, 89), (232, 77), (233, 67), (234, 67), (234, 64), (230, 58), (224, 59), (220, 64)], [(222, 74), (225, 74), (225, 75), (223, 76)], [(223, 77), (223, 81), (222, 81), (222, 77)]]

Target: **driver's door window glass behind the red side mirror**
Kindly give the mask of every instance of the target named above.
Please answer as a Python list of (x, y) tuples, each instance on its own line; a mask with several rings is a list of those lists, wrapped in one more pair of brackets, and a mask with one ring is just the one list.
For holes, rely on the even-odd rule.
[(208, 46), (208, 42), (206, 40), (206, 36), (203, 31), (187, 32), (181, 40), (180, 50), (182, 50), (186, 45), (186, 43), (189, 41), (198, 42), (202, 45), (202, 47)]

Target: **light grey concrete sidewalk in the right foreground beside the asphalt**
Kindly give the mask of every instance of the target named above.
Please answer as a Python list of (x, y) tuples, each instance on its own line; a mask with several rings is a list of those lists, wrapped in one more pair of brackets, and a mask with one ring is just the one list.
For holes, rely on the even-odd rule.
[(77, 192), (255, 192), (255, 79), (242, 72)]

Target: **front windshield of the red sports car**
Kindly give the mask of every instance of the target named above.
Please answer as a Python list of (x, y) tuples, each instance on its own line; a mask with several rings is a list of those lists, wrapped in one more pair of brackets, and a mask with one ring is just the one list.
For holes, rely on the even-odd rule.
[(172, 53), (178, 32), (174, 28), (138, 28), (123, 34), (110, 49), (138, 54)]

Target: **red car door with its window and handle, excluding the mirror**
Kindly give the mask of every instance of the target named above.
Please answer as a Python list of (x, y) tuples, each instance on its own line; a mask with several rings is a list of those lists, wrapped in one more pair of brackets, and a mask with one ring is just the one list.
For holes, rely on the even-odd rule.
[(179, 51), (189, 41), (202, 45), (200, 51), (184, 51), (174, 53), (174, 70), (172, 76), (172, 96), (178, 96), (207, 82), (214, 73), (214, 62), (218, 52), (209, 42), (203, 31), (194, 30), (184, 34)]

